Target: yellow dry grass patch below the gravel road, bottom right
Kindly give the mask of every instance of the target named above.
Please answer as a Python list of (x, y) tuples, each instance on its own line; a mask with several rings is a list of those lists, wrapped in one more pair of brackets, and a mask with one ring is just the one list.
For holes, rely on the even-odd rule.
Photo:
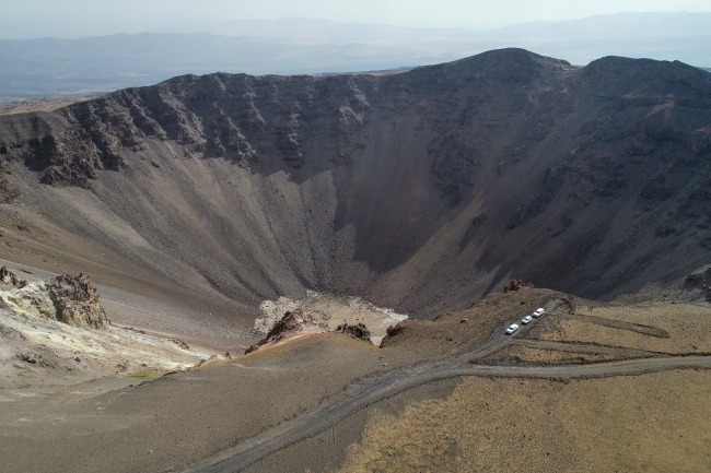
[(374, 409), (340, 473), (708, 472), (711, 373), (464, 378), (446, 400)]

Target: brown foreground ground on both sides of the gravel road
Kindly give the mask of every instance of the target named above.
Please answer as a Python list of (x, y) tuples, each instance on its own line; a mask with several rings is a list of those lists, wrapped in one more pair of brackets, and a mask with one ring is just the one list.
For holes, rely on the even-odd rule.
[[(668, 312), (669, 318), (687, 323), (711, 317), (711, 309), (672, 303), (660, 297), (657, 314)], [(183, 471), (200, 459), (269, 436), (334, 403), (356, 400), (369, 387), (410, 369), (453, 359), (461, 359), (462, 366), (474, 366), (468, 359), (510, 363), (511, 357), (496, 362), (493, 355), (510, 347), (550, 343), (534, 335), (541, 328), (557, 327), (559, 318), (575, 317), (573, 308), (591, 305), (595, 311), (609, 309), (605, 312), (609, 320), (617, 320), (614, 315), (621, 307), (547, 289), (497, 293), (466, 311), (444, 314), (438, 321), (405, 320), (400, 322), (403, 330), (385, 340), (381, 348), (342, 333), (316, 334), (98, 397), (56, 395), (42, 403), (16, 402), (13, 410), (0, 410), (0, 435), (7, 449), (0, 452), (0, 460), (11, 470), (27, 472), (57, 464), (62, 471), (74, 472)], [(503, 335), (508, 323), (537, 307), (546, 307), (547, 312), (513, 338)], [(675, 310), (669, 312), (669, 308)], [(636, 323), (644, 321), (653, 328), (649, 324), (653, 316), (649, 317)], [(668, 330), (673, 324), (667, 321), (664, 326)], [(606, 328), (631, 342), (636, 336), (646, 336), (684, 346), (690, 336), (688, 331), (669, 330), (669, 339), (658, 339)], [(494, 344), (487, 345), (487, 341)], [(568, 354), (579, 350), (584, 363), (596, 365), (603, 359), (663, 355), (634, 352), (626, 345), (615, 347), (613, 343), (583, 345), (563, 340), (562, 344), (564, 347), (549, 347), (553, 356), (547, 359), (540, 355), (549, 348), (518, 352), (522, 359), (517, 366), (573, 366), (570, 359), (557, 357), (561, 348)], [(462, 358), (480, 346), (483, 352)], [(602, 355), (594, 359), (596, 350)], [(704, 373), (573, 377), (564, 382), (522, 376), (454, 376), (452, 380), (396, 391), (335, 421), (333, 427), (288, 442), (245, 471), (373, 471), (373, 465), (383, 471), (443, 471), (452, 465), (455, 471), (480, 465), (510, 471), (525, 461), (531, 471), (550, 471), (551, 465), (570, 471), (580, 465), (590, 471), (610, 465), (636, 470), (639, 465), (646, 468), (664, 452), (668, 457), (660, 468), (677, 460), (691, 469), (708, 464), (704, 442), (711, 439), (701, 434), (706, 421), (698, 421), (711, 416)], [(673, 409), (664, 407), (672, 400)], [(697, 421), (689, 417), (691, 412)], [(45, 427), (39, 434), (40, 423)], [(608, 440), (595, 444), (594, 433), (598, 430), (606, 431)], [(688, 444), (678, 435), (693, 436), (693, 440)], [(652, 442), (654, 438), (661, 444)], [(407, 445), (405, 439), (410, 439)], [(523, 441), (527, 460), (521, 454), (503, 456), (504, 451), (517, 452)], [(420, 448), (420, 442), (427, 447)], [(653, 451), (657, 447), (661, 450)], [(570, 448), (581, 454), (571, 458)], [(687, 458), (679, 460), (683, 452)]]

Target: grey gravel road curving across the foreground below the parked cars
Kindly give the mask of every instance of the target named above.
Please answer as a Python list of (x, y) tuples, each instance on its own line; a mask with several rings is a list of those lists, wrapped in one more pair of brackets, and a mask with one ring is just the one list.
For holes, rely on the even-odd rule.
[[(489, 352), (505, 344), (500, 339), (487, 344)], [(475, 351), (480, 353), (480, 348)], [(474, 352), (467, 355), (473, 355)], [(465, 356), (458, 357), (462, 359)], [(289, 425), (278, 426), (259, 438), (255, 438), (205, 459), (185, 473), (237, 472), (275, 451), (301, 439), (308, 438), (336, 424), (343, 417), (383, 399), (408, 389), (458, 376), (515, 377), (515, 378), (601, 378), (610, 376), (641, 375), (668, 369), (711, 369), (711, 356), (660, 356), (642, 359), (626, 359), (609, 363), (563, 366), (485, 366), (450, 363), (418, 367), (393, 374), (393, 376), (370, 388), (339, 401), (328, 407), (296, 419)]]

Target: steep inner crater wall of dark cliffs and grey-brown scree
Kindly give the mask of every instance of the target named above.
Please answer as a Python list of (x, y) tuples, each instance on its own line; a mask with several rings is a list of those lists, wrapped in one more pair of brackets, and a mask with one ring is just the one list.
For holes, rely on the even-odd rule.
[(711, 74), (680, 62), (186, 75), (0, 117), (0, 157), (3, 212), (247, 311), (431, 317), (513, 276), (607, 297), (711, 262)]

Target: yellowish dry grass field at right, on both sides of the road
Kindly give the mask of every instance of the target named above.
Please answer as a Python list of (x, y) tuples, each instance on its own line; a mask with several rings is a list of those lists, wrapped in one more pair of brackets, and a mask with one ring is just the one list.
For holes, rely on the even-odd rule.
[[(538, 292), (493, 295), (471, 310), (514, 308), (526, 293)], [(567, 303), (477, 363), (583, 365), (711, 350), (708, 307), (664, 297)], [(445, 399), (410, 400), (397, 412), (372, 409), (338, 472), (710, 470), (711, 373), (688, 369), (597, 379), (463, 377)]]

